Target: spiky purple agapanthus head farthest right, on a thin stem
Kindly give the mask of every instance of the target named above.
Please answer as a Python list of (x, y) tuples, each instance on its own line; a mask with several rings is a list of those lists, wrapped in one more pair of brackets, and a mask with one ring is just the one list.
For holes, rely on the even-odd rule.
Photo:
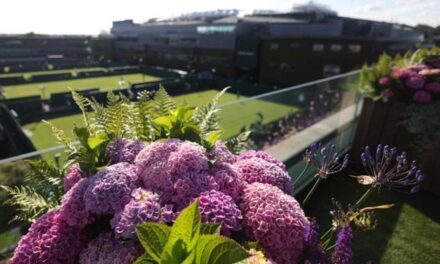
[(373, 157), (370, 148), (366, 146), (361, 160), (368, 175), (356, 178), (364, 185), (407, 189), (420, 185), (424, 179), (422, 172), (416, 167), (416, 162), (408, 163), (406, 153), (397, 155), (396, 148), (378, 145)]

